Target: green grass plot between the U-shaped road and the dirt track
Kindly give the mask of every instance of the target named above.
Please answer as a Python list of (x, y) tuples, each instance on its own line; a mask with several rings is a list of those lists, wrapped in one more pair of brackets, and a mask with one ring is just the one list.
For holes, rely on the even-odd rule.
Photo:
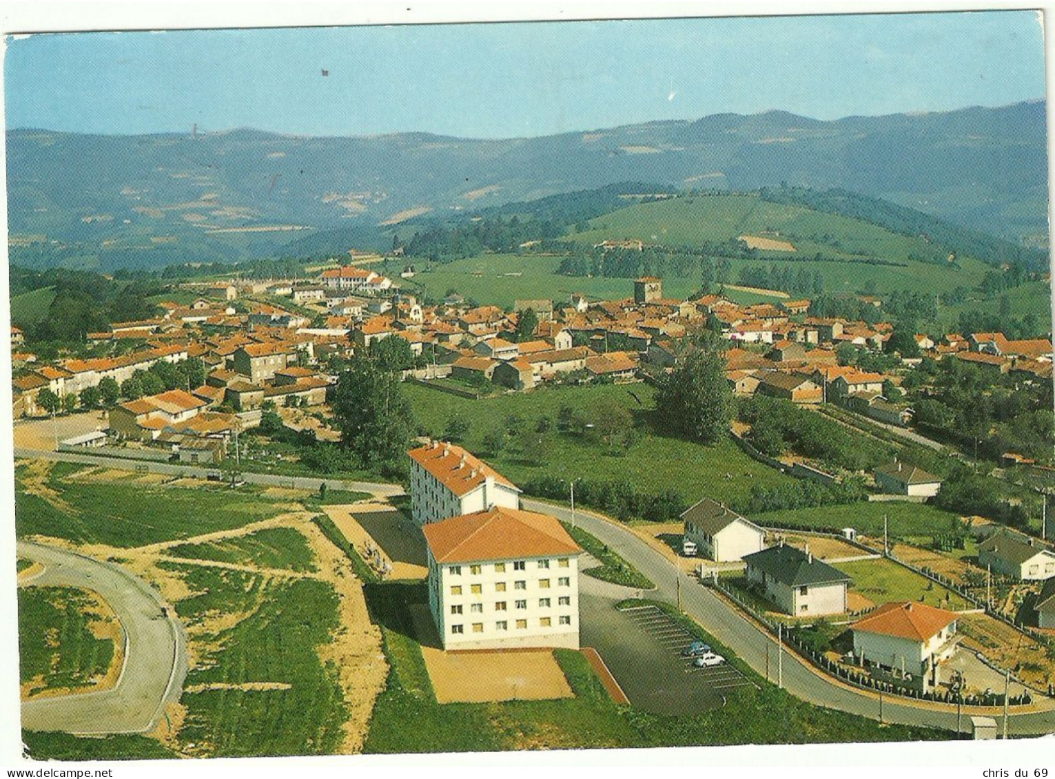
[[(211, 645), (186, 682), (206, 688), (185, 692), (180, 699), (188, 708), (179, 731), (186, 752), (200, 757), (331, 754), (346, 712), (337, 669), (324, 666), (315, 648), (329, 641), (338, 624), (332, 587), (307, 579), (280, 582), (234, 570), (166, 567), (181, 572), (198, 592), (175, 605)], [(217, 614), (243, 619), (212, 630)], [(208, 688), (246, 682), (274, 688)]]

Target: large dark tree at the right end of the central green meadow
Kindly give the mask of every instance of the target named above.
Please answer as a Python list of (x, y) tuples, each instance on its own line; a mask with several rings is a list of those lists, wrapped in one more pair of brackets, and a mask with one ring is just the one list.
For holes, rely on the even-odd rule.
[(717, 441), (732, 415), (732, 389), (721, 355), (688, 354), (659, 387), (656, 415), (671, 432), (692, 441)]

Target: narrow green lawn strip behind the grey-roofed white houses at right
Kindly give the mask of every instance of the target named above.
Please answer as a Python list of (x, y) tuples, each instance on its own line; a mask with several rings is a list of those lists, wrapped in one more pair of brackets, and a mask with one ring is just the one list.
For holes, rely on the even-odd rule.
[(801, 527), (814, 530), (856, 528), (866, 535), (883, 535), (883, 515), (893, 538), (934, 535), (948, 532), (956, 514), (921, 503), (862, 501), (844, 506), (819, 506), (752, 514), (763, 527)]

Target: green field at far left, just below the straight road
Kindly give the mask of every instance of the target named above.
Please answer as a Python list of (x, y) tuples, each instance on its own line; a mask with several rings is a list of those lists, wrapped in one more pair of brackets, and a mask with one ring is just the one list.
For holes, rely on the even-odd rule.
[(16, 468), (15, 527), (19, 537), (50, 535), (80, 543), (135, 547), (227, 530), (281, 513), (276, 504), (245, 492), (155, 485), (77, 482), (78, 467), (59, 464), (47, 479), (51, 500), (26, 491)]

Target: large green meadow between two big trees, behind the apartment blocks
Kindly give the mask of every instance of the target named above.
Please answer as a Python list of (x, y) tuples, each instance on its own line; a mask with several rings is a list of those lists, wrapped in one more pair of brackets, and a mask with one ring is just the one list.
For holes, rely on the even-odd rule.
[[(704, 446), (656, 435), (650, 420), (655, 390), (646, 384), (542, 387), (533, 392), (480, 401), (454, 397), (415, 385), (404, 385), (403, 390), (418, 424), (436, 437), (442, 436), (452, 416), (468, 421), (469, 430), (462, 445), (516, 484), (542, 475), (616, 480), (649, 492), (674, 489), (688, 504), (693, 504), (704, 496), (724, 503), (744, 502), (757, 481), (776, 483), (791, 479), (751, 460), (728, 439)], [(642, 405), (638, 405), (634, 395)], [(525, 462), (513, 444), (497, 454), (484, 449), (486, 434), (503, 425), (511, 414), (521, 417), (524, 428), (534, 429), (541, 416), (555, 420), (563, 405), (591, 418), (605, 413), (611, 404), (630, 409), (635, 425), (644, 433), (626, 454), (608, 453), (598, 444), (560, 432), (546, 435), (540, 463)], [(726, 479), (727, 473), (732, 478)]]

